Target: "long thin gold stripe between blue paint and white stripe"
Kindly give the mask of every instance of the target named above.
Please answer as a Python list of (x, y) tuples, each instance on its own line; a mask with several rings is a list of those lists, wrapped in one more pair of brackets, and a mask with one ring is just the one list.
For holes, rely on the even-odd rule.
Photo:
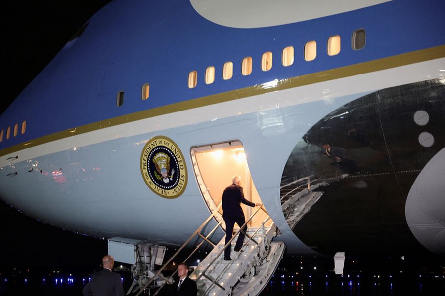
[(283, 79), (277, 82), (277, 85), (272, 88), (264, 87), (264, 85), (255, 85), (242, 89), (232, 90), (220, 94), (214, 94), (206, 97), (196, 98), (183, 102), (174, 103), (167, 106), (157, 107), (149, 110), (138, 111), (132, 114), (125, 114), (122, 116), (102, 120), (86, 124), (80, 127), (64, 130), (61, 132), (46, 135), (31, 141), (20, 143), (0, 151), (0, 156), (14, 153), (26, 148), (35, 147), (41, 144), (49, 143), (55, 140), (72, 137), (88, 133), (91, 131), (116, 126), (124, 123), (129, 123), (150, 117), (165, 115), (178, 111), (185, 111), (193, 108), (205, 107), (213, 104), (219, 104), (232, 100), (242, 99), (251, 96), (257, 96), (277, 90), (285, 90), (304, 85), (310, 85), (318, 82), (324, 82), (339, 78), (355, 76), (359, 74), (366, 74), (375, 71), (391, 69), (400, 66), (406, 66), (419, 62), (430, 61), (445, 57), (445, 45), (422, 49), (409, 53), (404, 53), (396, 56), (382, 58), (374, 61), (354, 64), (351, 66), (340, 67), (336, 69), (326, 70), (322, 72), (296, 76), (288, 79)]

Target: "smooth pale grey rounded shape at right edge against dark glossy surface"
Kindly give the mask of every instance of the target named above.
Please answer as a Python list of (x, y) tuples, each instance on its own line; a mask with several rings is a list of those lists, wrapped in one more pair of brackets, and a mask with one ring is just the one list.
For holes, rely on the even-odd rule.
[(445, 255), (445, 148), (431, 158), (411, 186), (405, 216), (424, 247)]

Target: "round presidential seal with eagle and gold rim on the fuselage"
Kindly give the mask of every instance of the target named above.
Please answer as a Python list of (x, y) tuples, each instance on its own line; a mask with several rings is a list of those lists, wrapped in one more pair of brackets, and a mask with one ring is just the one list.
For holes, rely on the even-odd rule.
[(187, 186), (187, 167), (181, 150), (171, 139), (157, 136), (140, 156), (140, 171), (148, 187), (165, 198), (179, 197)]

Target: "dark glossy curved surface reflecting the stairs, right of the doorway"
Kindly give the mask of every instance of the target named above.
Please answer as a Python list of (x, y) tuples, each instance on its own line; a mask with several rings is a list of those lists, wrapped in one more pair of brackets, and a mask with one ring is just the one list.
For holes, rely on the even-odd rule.
[(324, 254), (426, 251), (408, 227), (405, 203), (445, 146), (444, 121), (443, 79), (379, 90), (321, 118), (283, 171), (289, 226)]

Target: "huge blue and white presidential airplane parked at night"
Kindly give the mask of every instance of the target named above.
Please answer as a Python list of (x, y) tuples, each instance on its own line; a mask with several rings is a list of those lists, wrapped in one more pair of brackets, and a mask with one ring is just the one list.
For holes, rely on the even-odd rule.
[[(1, 115), (1, 198), (109, 239), (150, 279), (161, 262), (135, 251), (204, 237), (201, 294), (258, 294), (285, 248), (445, 255), (444, 15), (439, 0), (115, 0)], [(210, 275), (233, 175), (263, 206), (244, 209), (248, 252)]]

